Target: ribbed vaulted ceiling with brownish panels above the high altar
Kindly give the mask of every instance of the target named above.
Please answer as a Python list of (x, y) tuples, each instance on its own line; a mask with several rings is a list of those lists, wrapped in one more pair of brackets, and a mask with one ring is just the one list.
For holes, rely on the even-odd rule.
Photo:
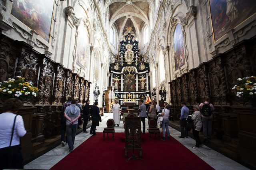
[(154, 0), (106, 0), (105, 9), (109, 12), (109, 26), (113, 24), (122, 35), (126, 27), (132, 27), (136, 36), (146, 24), (149, 26), (150, 8), (154, 9)]

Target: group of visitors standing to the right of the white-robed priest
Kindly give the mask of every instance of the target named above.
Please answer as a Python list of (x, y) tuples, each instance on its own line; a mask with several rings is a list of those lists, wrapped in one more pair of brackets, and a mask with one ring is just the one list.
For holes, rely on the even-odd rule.
[[(169, 131), (169, 119), (171, 117), (170, 113), (170, 105), (167, 102), (164, 103), (164, 109), (160, 112), (160, 107), (156, 105), (155, 101), (152, 101), (148, 107), (148, 113), (146, 113), (146, 105), (144, 105), (143, 100), (140, 100), (140, 108), (139, 108), (139, 117), (141, 118), (143, 124), (142, 133), (145, 134), (145, 119), (157, 119), (158, 115), (158, 125), (162, 127), (163, 136), (162, 140), (166, 140), (166, 132), (167, 139), (170, 139), (170, 131)], [(179, 138), (187, 138), (188, 137), (188, 117), (191, 117), (192, 120), (192, 132), (194, 138), (196, 139), (196, 145), (193, 148), (199, 148), (202, 144), (199, 137), (199, 132), (203, 127), (204, 132), (204, 140), (203, 142), (208, 142), (211, 139), (212, 134), (212, 111), (214, 111), (213, 105), (210, 103), (210, 98), (206, 97), (203, 103), (200, 105), (193, 106), (193, 114), (189, 115), (189, 109), (186, 107), (185, 102), (181, 102), (181, 114), (180, 114), (180, 131), (181, 135)], [(158, 113), (158, 114), (157, 114)]]

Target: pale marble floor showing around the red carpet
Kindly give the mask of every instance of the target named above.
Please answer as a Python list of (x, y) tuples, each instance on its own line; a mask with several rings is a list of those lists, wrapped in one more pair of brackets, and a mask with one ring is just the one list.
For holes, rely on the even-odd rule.
[[(106, 127), (106, 121), (108, 119), (112, 119), (112, 113), (104, 113), (104, 117), (102, 117), (102, 123), (97, 127), (96, 132), (102, 132)], [(146, 119), (147, 121), (147, 119)], [(146, 122), (146, 125), (148, 123)], [(147, 127), (146, 127), (147, 129)], [(202, 145), (200, 148), (192, 148), (195, 145), (195, 140), (188, 138), (178, 138), (180, 136), (180, 132), (169, 127), (171, 136), (178, 140), (181, 144), (186, 146), (189, 150), (191, 150), (194, 154), (196, 154), (199, 158), (204, 160), (207, 164), (212, 166), (212, 168), (216, 170), (247, 170), (245, 166), (227, 158), (226, 156), (208, 148), (207, 146)], [(90, 129), (87, 129), (90, 130)], [(124, 132), (124, 125), (121, 121), (120, 127), (115, 127), (115, 132)], [(92, 135), (89, 133), (80, 133), (76, 135), (74, 148), (82, 144), (85, 140), (90, 138)], [(50, 150), (46, 154), (40, 156), (39, 158), (33, 160), (32, 162), (26, 164), (24, 169), (50, 169), (52, 166), (57, 164), (62, 158), (69, 154), (68, 145), (65, 146), (57, 146), (56, 148)]]

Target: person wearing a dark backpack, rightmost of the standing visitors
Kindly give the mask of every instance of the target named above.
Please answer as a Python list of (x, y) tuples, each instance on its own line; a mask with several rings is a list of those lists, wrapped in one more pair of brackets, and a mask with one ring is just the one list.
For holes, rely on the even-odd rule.
[(211, 139), (212, 135), (212, 111), (214, 107), (210, 103), (210, 98), (206, 97), (205, 101), (199, 105), (202, 114), (203, 121), (203, 131), (204, 131), (204, 140), (203, 142), (208, 142)]

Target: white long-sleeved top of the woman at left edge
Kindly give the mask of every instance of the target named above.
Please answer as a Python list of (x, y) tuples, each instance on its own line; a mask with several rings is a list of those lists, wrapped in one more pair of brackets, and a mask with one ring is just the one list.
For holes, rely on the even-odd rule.
[[(2, 113), (0, 114), (0, 148), (10, 146), (10, 140), (12, 136), (12, 126), (14, 123), (15, 114), (13, 113)], [(20, 144), (20, 137), (26, 134), (24, 122), (22, 116), (16, 117), (14, 132), (12, 136), (11, 146)]]

